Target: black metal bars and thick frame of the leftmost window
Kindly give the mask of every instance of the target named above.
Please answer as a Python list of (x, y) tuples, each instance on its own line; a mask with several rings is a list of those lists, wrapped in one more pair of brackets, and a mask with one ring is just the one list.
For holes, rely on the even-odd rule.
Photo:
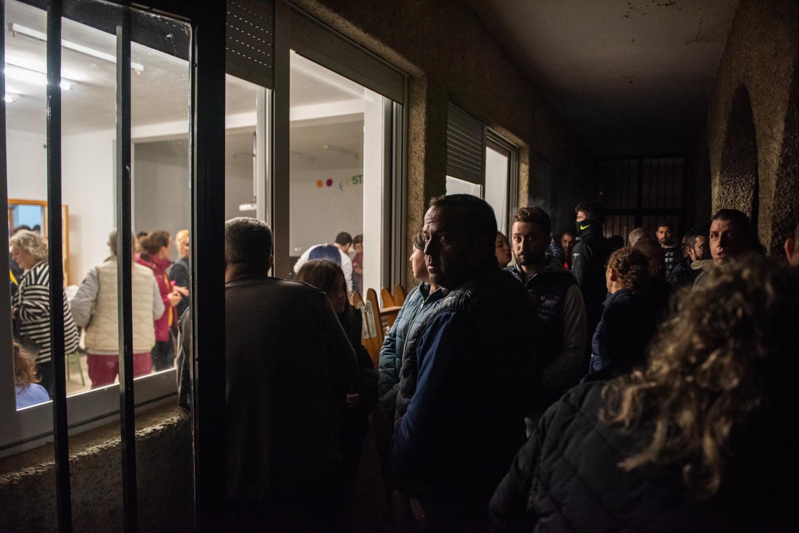
[[(61, 235), (61, 21), (64, 2), (26, 2), (47, 11), (47, 224), (50, 235)], [(69, 3), (69, 2), (68, 2)], [(130, 84), (129, 61), (132, 9), (127, 2), (103, 2), (93, 6), (112, 6), (123, 15), (114, 24), (117, 34), (117, 272), (122, 329), (120, 335), (120, 385), (118, 389), (121, 424), (122, 480), (125, 531), (137, 531), (136, 456), (133, 398), (133, 348), (131, 337), (130, 274)], [(85, 5), (85, 4), (84, 4)], [(6, 2), (0, 0), (0, 23), (5, 29)], [(120, 10), (121, 8), (121, 10)], [(218, 435), (225, 428), (225, 360), (223, 357), (199, 357), (202, 353), (225, 353), (225, 5), (201, 2), (161, 0), (149, 6), (136, 6), (145, 11), (177, 18), (191, 26), (190, 134), (192, 194), (192, 272), (191, 313), (193, 323), (194, 367), (194, 475), (198, 529), (213, 529), (225, 516), (225, 440)], [(108, 30), (106, 30), (108, 31)], [(0, 32), (0, 54), (5, 62), (5, 32)], [(5, 75), (0, 75), (0, 89), (5, 90)], [(6, 158), (6, 106), (0, 101), (0, 226), (8, 227), (8, 172)], [(60, 239), (50, 239), (50, 262), (61, 264)], [(8, 256), (0, 255), (0, 268), (8, 272)], [(127, 274), (127, 275), (125, 275)], [(5, 278), (5, 276), (4, 276)], [(65, 353), (63, 343), (63, 306), (61, 302), (63, 274), (50, 272), (50, 330), (54, 359), (53, 440), (57, 484), (59, 531), (72, 531), (70, 492), (69, 427), (67, 423)], [(9, 301), (9, 282), (0, 283), (0, 298)], [(0, 312), (10, 332), (7, 309)], [(3, 335), (6, 338), (6, 335)], [(10, 353), (10, 335), (2, 349)], [(174, 379), (173, 373), (166, 373)], [(9, 376), (13, 376), (13, 371)], [(4, 385), (13, 385), (13, 382)], [(14, 405), (14, 387), (0, 386), (0, 402)]]

